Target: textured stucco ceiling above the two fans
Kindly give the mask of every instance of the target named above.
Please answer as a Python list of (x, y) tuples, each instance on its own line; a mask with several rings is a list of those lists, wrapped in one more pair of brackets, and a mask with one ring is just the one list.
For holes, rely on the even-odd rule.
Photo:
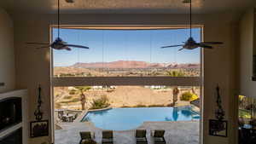
[[(61, 13), (94, 14), (186, 14), (183, 0), (73, 0), (61, 1)], [(11, 13), (55, 13), (57, 0), (1, 0), (0, 8)], [(198, 14), (239, 12), (255, 5), (255, 0), (192, 0)]]

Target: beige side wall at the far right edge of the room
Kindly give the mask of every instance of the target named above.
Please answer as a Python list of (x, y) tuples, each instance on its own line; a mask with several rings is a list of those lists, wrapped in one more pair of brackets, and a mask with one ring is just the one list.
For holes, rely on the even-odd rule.
[[(248, 9), (240, 21), (240, 94), (256, 97), (253, 76), (253, 9)], [(255, 41), (255, 39), (254, 39)]]

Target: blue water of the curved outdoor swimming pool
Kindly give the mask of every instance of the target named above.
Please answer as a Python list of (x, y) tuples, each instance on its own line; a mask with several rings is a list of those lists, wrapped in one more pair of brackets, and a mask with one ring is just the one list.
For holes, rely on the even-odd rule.
[(146, 121), (190, 121), (200, 119), (191, 107), (113, 108), (88, 112), (82, 121), (90, 121), (103, 130), (132, 130)]

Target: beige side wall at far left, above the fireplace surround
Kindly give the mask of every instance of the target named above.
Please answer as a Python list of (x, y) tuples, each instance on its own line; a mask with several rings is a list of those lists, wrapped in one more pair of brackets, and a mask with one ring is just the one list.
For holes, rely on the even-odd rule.
[(13, 20), (0, 8), (0, 93), (15, 89), (15, 47)]

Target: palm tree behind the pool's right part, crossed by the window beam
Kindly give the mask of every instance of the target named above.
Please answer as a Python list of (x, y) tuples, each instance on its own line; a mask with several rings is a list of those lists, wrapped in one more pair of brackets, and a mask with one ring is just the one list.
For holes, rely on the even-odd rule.
[[(183, 71), (167, 71), (167, 76), (170, 76), (170, 77), (184, 77), (185, 76), (185, 73)], [(175, 86), (173, 89), (172, 89), (172, 107), (175, 106), (175, 103), (177, 102), (177, 95), (179, 93), (179, 90), (177, 88), (177, 86)]]

